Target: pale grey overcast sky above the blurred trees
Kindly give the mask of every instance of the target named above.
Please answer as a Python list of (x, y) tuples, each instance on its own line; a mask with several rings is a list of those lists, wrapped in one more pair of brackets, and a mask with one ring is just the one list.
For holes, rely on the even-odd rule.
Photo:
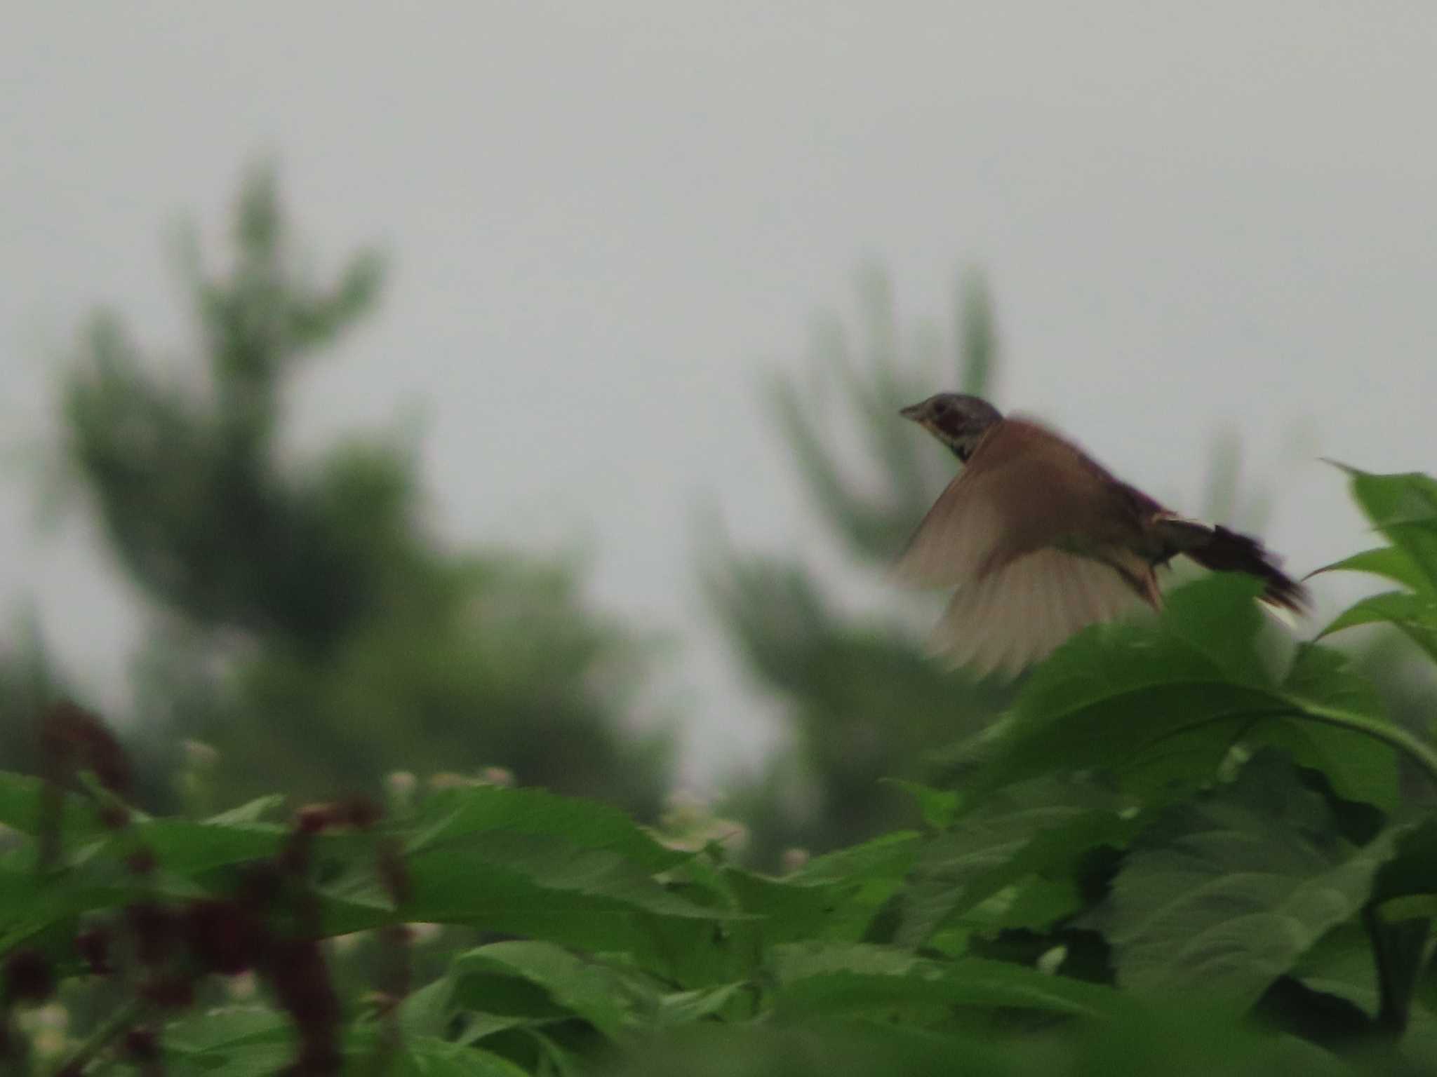
[[(93, 303), (182, 349), (165, 230), (218, 236), (274, 154), (316, 258), (394, 257), (303, 379), (300, 441), (420, 408), (445, 534), (582, 549), (596, 602), (680, 636), (700, 774), (766, 727), (733, 705), (694, 508), (744, 547), (821, 541), (759, 376), (852, 310), (864, 257), (910, 325), (981, 266), (999, 402), (1178, 505), (1239, 431), (1299, 572), (1364, 541), (1318, 454), (1437, 470), (1437, 4), (3, 7), (7, 458)], [(124, 698), (131, 599), (82, 518), (32, 521), (11, 467), (0, 610), (33, 599)]]

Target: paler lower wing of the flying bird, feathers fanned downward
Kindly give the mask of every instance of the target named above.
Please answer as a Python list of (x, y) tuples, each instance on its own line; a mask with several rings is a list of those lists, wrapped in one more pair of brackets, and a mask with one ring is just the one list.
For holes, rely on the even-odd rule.
[(933, 635), (934, 651), (979, 676), (1012, 676), (1079, 629), (1142, 599), (1108, 564), (1045, 549), (958, 587)]

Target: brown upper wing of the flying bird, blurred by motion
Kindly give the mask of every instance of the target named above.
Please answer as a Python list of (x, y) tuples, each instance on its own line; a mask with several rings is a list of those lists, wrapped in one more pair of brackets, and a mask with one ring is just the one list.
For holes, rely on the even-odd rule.
[(1131, 517), (1121, 490), (1068, 441), (1004, 419), (938, 495), (895, 572), (908, 583), (954, 587), (1073, 537), (1108, 546)]

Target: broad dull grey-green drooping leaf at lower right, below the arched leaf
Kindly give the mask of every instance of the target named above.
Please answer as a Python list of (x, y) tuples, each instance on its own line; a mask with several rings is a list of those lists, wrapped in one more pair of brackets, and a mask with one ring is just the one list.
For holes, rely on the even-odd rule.
[(1400, 834), (1351, 846), (1292, 765), (1263, 752), (1232, 787), (1170, 808), (1082, 923), (1106, 936), (1121, 987), (1246, 1010), (1357, 915)]

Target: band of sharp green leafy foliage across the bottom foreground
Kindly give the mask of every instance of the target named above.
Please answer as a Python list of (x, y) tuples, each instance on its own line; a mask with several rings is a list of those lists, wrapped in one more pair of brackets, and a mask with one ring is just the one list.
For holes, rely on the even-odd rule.
[[(1354, 475), (1424, 629), (1437, 520), (1385, 513), (1431, 488)], [(1437, 811), (1392, 760), (1437, 783), (1437, 752), (1275, 633), (1224, 576), (1088, 629), (954, 788), (894, 785), (920, 829), (782, 876), (535, 788), (148, 817), (60, 709), (50, 781), (0, 775), (0, 1043), (180, 1074), (1437, 1073)], [(50, 997), (88, 1015), (60, 1043), (29, 1031)]]

